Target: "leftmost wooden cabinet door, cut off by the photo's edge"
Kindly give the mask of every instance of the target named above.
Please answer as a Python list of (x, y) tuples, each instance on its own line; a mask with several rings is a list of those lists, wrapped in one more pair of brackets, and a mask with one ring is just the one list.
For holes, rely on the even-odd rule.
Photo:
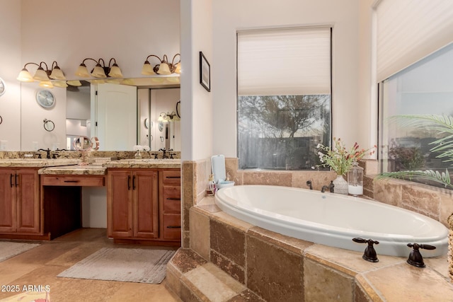
[(0, 169), (0, 233), (16, 232), (14, 170)]

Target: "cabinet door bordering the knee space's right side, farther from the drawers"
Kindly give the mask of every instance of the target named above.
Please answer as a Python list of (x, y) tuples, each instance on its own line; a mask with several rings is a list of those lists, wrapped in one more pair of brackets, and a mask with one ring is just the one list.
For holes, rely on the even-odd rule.
[(107, 183), (108, 236), (132, 238), (132, 173), (111, 170)]

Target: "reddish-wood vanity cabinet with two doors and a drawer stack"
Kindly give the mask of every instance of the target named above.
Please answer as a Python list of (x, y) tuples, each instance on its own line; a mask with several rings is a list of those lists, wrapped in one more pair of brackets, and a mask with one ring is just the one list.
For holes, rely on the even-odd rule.
[(180, 245), (180, 169), (109, 168), (107, 211), (115, 243)]

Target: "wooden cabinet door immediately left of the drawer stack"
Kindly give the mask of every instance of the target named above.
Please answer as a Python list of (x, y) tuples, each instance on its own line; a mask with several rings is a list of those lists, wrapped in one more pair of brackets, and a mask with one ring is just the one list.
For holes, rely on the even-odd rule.
[(159, 237), (158, 172), (134, 172), (134, 238)]

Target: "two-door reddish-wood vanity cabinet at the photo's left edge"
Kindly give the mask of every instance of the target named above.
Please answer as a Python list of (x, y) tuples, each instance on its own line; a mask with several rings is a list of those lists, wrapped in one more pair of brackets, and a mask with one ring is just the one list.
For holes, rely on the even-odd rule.
[(40, 228), (36, 168), (0, 168), (0, 233), (36, 235)]

